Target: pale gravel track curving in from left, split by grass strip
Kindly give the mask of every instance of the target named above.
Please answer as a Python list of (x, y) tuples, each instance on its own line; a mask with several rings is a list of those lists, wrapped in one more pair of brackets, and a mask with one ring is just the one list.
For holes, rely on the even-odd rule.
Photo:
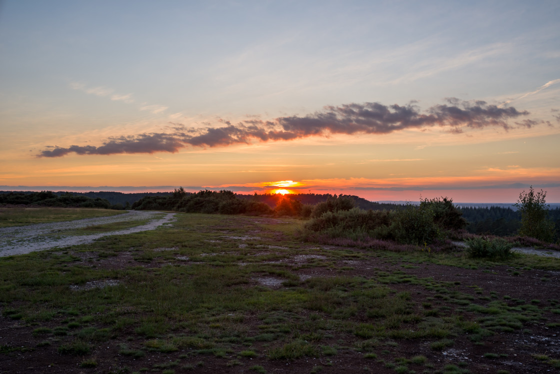
[[(129, 211), (128, 213), (99, 218), (85, 218), (74, 221), (41, 223), (36, 225), (17, 226), (0, 228), (0, 257), (22, 255), (33, 251), (48, 250), (55, 247), (75, 246), (77, 244), (91, 243), (95, 239), (109, 235), (125, 235), (141, 231), (153, 230), (156, 227), (169, 223), (174, 220), (175, 213), (164, 213), (161, 219), (155, 219), (158, 211)], [(115, 230), (111, 232), (66, 236), (66, 237), (45, 237), (57, 232), (79, 229), (91, 225), (102, 225), (122, 221), (138, 221), (152, 219), (144, 225), (131, 227), (128, 229)]]

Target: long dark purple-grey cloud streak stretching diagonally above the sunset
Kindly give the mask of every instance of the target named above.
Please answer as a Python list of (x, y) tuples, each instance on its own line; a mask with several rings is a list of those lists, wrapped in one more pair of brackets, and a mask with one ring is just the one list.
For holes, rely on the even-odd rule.
[[(142, 110), (159, 113), (167, 109), (161, 105), (147, 105)], [(508, 120), (526, 116), (529, 112), (514, 107), (498, 108), (485, 101), (463, 101), (446, 99), (445, 104), (434, 105), (426, 112), (409, 103), (406, 105), (383, 105), (380, 103), (344, 104), (325, 107), (320, 112), (305, 117), (279, 117), (272, 121), (247, 119), (237, 124), (220, 120), (221, 127), (193, 129), (183, 124), (171, 123), (171, 133), (143, 133), (136, 136), (110, 138), (103, 145), (70, 147), (48, 147), (39, 157), (59, 157), (69, 153), (122, 154), (122, 153), (175, 153), (186, 146), (217, 147), (235, 144), (251, 144), (253, 141), (294, 140), (311, 136), (337, 134), (388, 134), (407, 129), (442, 127), (447, 131), (460, 133), (466, 128), (482, 129), (502, 127), (508, 130), (515, 125), (531, 127), (535, 121), (519, 122), (511, 125)]]

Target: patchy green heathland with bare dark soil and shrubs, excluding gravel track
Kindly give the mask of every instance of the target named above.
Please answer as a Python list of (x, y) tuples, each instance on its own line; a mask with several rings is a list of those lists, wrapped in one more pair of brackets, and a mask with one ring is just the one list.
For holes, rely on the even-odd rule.
[[(187, 213), (223, 203), (195, 196), (155, 230), (1, 257), (1, 370), (560, 368), (560, 259), (511, 251), (530, 245), (554, 255), (557, 244), (466, 232), (448, 199), (394, 211), (356, 209), (347, 197), (311, 207), (286, 201), (284, 214)], [(0, 225), (21, 210), (3, 209)], [(29, 209), (18, 224), (112, 213)]]

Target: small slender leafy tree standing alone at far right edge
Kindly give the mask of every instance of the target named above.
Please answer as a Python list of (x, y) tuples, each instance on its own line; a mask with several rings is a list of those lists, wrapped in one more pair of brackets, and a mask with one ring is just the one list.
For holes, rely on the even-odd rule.
[(540, 190), (535, 193), (533, 186), (529, 192), (521, 192), (515, 207), (521, 213), (520, 236), (531, 237), (545, 242), (552, 241), (554, 236), (554, 223), (547, 219), (548, 209), (545, 198), (547, 192)]

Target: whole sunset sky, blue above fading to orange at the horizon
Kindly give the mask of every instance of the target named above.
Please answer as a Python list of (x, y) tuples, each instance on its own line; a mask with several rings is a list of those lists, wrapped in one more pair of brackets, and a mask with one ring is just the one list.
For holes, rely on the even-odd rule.
[(0, 1), (0, 190), (560, 202), (558, 1)]

